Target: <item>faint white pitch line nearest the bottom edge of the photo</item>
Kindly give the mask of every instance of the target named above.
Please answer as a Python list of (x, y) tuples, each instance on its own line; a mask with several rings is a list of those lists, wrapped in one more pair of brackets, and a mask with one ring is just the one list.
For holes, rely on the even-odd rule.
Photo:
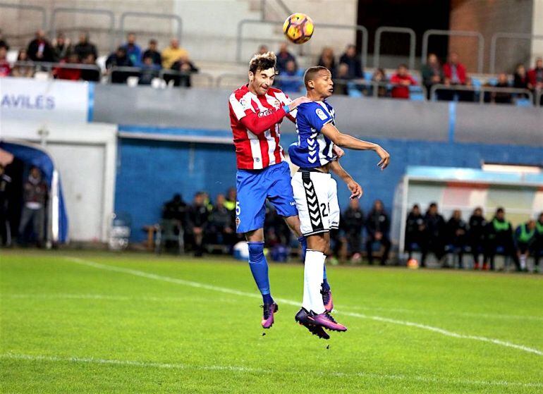
[(511, 381), (470, 381), (467, 379), (447, 379), (434, 378), (429, 376), (409, 376), (399, 374), (374, 374), (371, 372), (319, 372), (319, 371), (275, 371), (271, 369), (257, 369), (251, 367), (240, 367), (234, 365), (190, 365), (178, 363), (161, 363), (161, 362), (142, 362), (119, 359), (99, 359), (94, 357), (56, 357), (42, 355), (18, 355), (14, 353), (5, 353), (0, 355), (0, 359), (15, 359), (25, 361), (46, 361), (46, 362), (73, 362), (85, 364), (105, 364), (105, 365), (120, 365), (126, 367), (144, 367), (144, 368), (159, 368), (159, 369), (195, 369), (200, 371), (233, 371), (252, 374), (311, 374), (318, 376), (338, 376), (338, 377), (362, 377), (362, 378), (381, 378), (394, 381), (420, 381), (427, 383), (439, 384), (463, 384), (475, 386), (501, 386), (501, 387), (523, 387), (523, 388), (543, 388), (543, 383), (532, 382), (511, 382)]

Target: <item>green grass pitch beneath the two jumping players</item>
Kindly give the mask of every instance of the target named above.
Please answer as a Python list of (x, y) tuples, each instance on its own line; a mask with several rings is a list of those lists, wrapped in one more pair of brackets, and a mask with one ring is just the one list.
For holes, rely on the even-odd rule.
[[(543, 393), (543, 278), (329, 267), (325, 341), (294, 322), (303, 266), (0, 254), (2, 393)], [(329, 348), (328, 348), (329, 345)]]

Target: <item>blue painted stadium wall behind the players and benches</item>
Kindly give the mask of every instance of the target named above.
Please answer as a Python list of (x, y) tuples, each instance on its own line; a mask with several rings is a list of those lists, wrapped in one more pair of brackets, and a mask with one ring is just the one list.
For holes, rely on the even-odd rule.
[[(183, 131), (176, 130), (176, 134)], [(539, 166), (543, 162), (543, 147), (360, 137), (381, 144), (392, 159), (385, 171), (377, 168), (373, 152), (348, 152), (341, 160), (365, 190), (361, 200), (365, 211), (374, 199), (382, 199), (391, 208), (394, 190), (407, 166), (480, 168), (482, 161)], [(288, 147), (294, 135), (283, 134), (282, 140), (283, 147)], [(195, 192), (205, 190), (214, 199), (236, 184), (236, 157), (229, 144), (120, 138), (118, 162), (115, 210), (130, 214), (133, 241), (145, 239), (142, 227), (157, 223), (162, 204), (174, 193), (190, 202)], [(338, 197), (342, 209), (346, 208), (349, 193), (341, 183)]]

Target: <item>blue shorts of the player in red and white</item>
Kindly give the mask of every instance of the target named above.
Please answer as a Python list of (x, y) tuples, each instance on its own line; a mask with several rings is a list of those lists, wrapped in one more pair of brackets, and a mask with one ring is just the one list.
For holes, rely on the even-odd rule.
[(238, 170), (236, 175), (238, 201), (236, 202), (236, 231), (248, 233), (264, 228), (266, 199), (281, 216), (297, 216), (291, 171), (283, 161), (262, 170)]

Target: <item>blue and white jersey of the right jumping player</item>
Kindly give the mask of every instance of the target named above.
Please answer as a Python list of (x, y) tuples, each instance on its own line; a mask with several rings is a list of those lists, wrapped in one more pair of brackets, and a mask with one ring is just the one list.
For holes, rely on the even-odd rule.
[(327, 123), (336, 123), (334, 109), (326, 101), (300, 104), (296, 115), (298, 142), (288, 147), (293, 164), (300, 168), (324, 166), (334, 160), (331, 142), (321, 133)]

